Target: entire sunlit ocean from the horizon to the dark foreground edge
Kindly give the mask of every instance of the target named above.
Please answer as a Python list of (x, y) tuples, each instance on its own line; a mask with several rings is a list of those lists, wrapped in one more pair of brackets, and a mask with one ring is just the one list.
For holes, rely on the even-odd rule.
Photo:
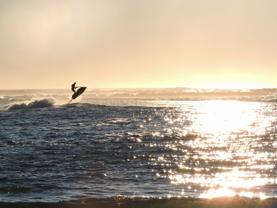
[(71, 95), (0, 90), (1, 202), (277, 196), (275, 88)]

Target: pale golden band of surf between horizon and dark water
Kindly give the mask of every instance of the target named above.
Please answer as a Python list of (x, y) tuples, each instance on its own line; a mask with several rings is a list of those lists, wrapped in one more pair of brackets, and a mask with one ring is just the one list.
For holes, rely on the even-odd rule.
[[(67, 105), (72, 91), (52, 90), (0, 90), (0, 110), (20, 110)], [(118, 98), (118, 99), (115, 99)], [(117, 102), (122, 98), (120, 102)], [(277, 102), (277, 89), (222, 90), (195, 88), (126, 88), (87, 89), (82, 102), (100, 105), (141, 105), (137, 101), (152, 99), (166, 101), (233, 100), (246, 102)], [(78, 101), (74, 101), (78, 102)], [(159, 104), (158, 104), (159, 105)]]

